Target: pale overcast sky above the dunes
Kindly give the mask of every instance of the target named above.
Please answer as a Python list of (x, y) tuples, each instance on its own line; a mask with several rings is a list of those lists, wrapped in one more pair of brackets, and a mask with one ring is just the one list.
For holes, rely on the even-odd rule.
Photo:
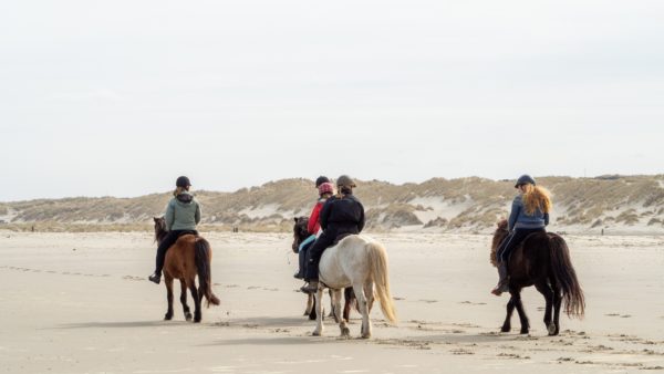
[(0, 201), (662, 174), (662, 1), (6, 1)]

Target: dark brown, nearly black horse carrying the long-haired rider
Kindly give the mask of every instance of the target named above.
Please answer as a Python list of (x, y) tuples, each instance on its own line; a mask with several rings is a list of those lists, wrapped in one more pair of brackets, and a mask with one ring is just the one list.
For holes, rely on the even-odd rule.
[[(509, 231), (507, 220), (497, 224), (491, 242), (490, 260), (498, 266), (497, 250)], [(517, 309), (521, 322), (521, 334), (528, 334), (530, 324), (523, 304), (521, 290), (535, 288), (544, 297), (544, 324), (550, 336), (560, 333), (560, 307), (564, 300), (564, 312), (569, 318), (582, 319), (585, 312), (585, 299), (577, 272), (572, 266), (570, 250), (559, 235), (552, 232), (535, 232), (523, 239), (515, 248), (508, 260), (509, 293), (507, 316), (500, 329), (501, 332), (511, 330), (511, 315)]]

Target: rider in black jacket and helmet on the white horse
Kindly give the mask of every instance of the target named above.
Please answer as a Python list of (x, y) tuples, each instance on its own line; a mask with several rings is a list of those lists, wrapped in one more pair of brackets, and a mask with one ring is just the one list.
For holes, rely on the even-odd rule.
[(347, 175), (336, 179), (338, 195), (328, 199), (321, 210), (320, 221), (323, 233), (309, 249), (307, 264), (307, 281), (309, 284), (300, 290), (305, 293), (315, 292), (319, 283), (319, 262), (323, 251), (339, 240), (353, 233), (362, 232), (364, 228), (364, 207), (353, 196), (355, 183)]

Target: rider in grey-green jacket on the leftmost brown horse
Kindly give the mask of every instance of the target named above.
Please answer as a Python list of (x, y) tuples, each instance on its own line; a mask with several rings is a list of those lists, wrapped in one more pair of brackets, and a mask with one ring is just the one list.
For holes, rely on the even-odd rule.
[(166, 229), (168, 233), (157, 248), (157, 266), (155, 272), (149, 276), (149, 280), (159, 284), (162, 281), (162, 269), (164, 268), (164, 259), (166, 251), (173, 246), (177, 238), (185, 233), (198, 235), (196, 225), (200, 222), (200, 204), (189, 193), (191, 183), (187, 177), (179, 177), (175, 181), (176, 189), (173, 191), (173, 198), (166, 206)]

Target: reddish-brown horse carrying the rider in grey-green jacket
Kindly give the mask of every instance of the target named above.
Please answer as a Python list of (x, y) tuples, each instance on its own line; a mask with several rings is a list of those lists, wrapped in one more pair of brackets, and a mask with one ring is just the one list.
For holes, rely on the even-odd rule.
[[(155, 217), (155, 240), (158, 243), (162, 242), (167, 233), (166, 220), (163, 217)], [(180, 281), (180, 302), (187, 321), (191, 321), (191, 312), (189, 305), (187, 305), (187, 288), (194, 299), (194, 322), (200, 322), (203, 316), (200, 310), (203, 298), (207, 300), (208, 308), (210, 303), (219, 305), (219, 299), (212, 292), (211, 287), (211, 260), (212, 249), (210, 243), (199, 236), (183, 235), (175, 245), (168, 248), (164, 261), (168, 311), (166, 311), (164, 320), (169, 321), (173, 319), (173, 281), (175, 279)], [(198, 276), (198, 288), (196, 288), (196, 276)]]

